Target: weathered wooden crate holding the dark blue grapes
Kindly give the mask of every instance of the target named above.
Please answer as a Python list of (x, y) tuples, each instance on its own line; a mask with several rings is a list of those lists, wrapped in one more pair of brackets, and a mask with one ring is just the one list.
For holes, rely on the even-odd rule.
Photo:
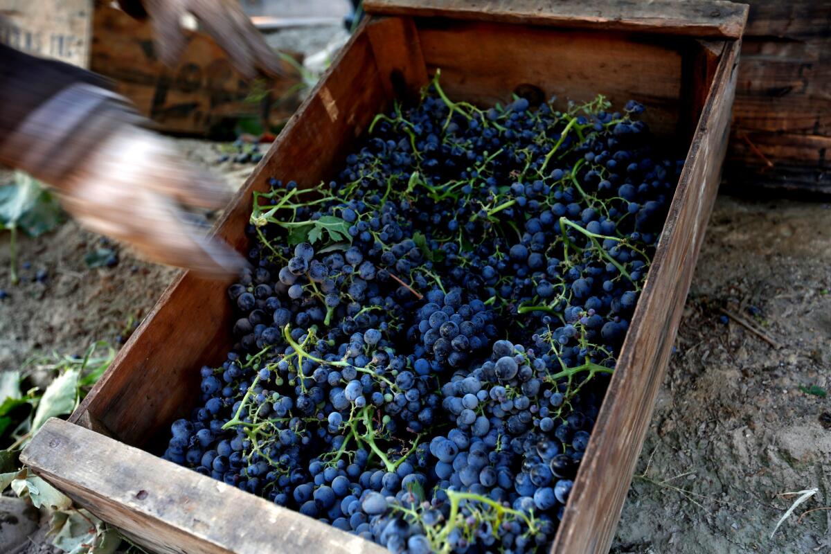
[[(661, 140), (687, 152), (553, 545), (553, 552), (605, 552), (718, 188), (746, 6), (713, 0), (655, 0), (637, 8), (614, 0), (366, 0), (365, 6), (373, 15), (219, 222), (219, 235), (240, 251), (253, 190), (267, 190), (273, 175), (303, 187), (327, 179), (378, 110), (415, 94), (437, 68), (451, 97), (484, 104), (528, 86), (563, 100), (601, 92), (617, 105), (643, 101)], [(145, 451), (160, 452), (170, 422), (197, 400), (199, 366), (216, 365), (232, 344), (227, 284), (179, 277), (71, 423), (49, 421), (22, 460), (158, 552), (380, 552)]]

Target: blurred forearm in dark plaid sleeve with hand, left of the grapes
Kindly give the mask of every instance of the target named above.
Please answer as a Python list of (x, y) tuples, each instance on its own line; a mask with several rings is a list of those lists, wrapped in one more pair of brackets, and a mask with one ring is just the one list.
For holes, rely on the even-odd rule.
[(156, 262), (224, 277), (245, 265), (202, 237), (182, 205), (220, 208), (223, 184), (142, 128), (130, 103), (87, 71), (0, 45), (0, 163), (57, 189), (86, 228)]

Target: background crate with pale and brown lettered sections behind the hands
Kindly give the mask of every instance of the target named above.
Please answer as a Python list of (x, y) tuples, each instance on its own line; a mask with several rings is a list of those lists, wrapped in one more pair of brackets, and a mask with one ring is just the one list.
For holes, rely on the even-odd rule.
[(109, 77), (116, 92), (167, 132), (212, 135), (233, 130), (241, 117), (283, 125), (297, 109), (302, 79), (291, 64), (282, 62), (284, 76), (260, 81), (257, 86), (268, 94), (252, 101), (252, 83), (213, 38), (183, 31), (187, 46), (176, 66), (167, 67), (155, 56), (150, 22), (136, 21), (111, 3), (2, 0), (0, 42)]

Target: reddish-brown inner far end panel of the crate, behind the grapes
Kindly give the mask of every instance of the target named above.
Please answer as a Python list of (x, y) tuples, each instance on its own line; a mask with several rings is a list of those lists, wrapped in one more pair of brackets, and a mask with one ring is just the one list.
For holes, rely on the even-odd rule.
[(656, 134), (676, 136), (681, 103), (681, 51), (635, 42), (614, 32), (553, 31), (480, 22), (422, 20), (421, 49), (430, 72), (441, 70), (450, 97), (481, 105), (510, 100), (519, 86), (536, 86), (543, 99), (592, 101), (597, 94), (617, 108), (637, 99), (649, 106), (645, 120)]

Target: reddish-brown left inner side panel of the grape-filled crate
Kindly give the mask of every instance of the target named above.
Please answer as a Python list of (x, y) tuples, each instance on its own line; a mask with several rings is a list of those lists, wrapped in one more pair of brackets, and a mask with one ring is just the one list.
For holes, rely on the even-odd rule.
[[(386, 103), (366, 32), (361, 31), (229, 204), (218, 223), (219, 236), (246, 252), (252, 192), (266, 191), (272, 176), (294, 179), (302, 187), (327, 179), (347, 146)], [(188, 413), (199, 385), (199, 365), (218, 364), (232, 346), (228, 284), (192, 273), (179, 277), (71, 420), (94, 421), (111, 436), (142, 446)]]

